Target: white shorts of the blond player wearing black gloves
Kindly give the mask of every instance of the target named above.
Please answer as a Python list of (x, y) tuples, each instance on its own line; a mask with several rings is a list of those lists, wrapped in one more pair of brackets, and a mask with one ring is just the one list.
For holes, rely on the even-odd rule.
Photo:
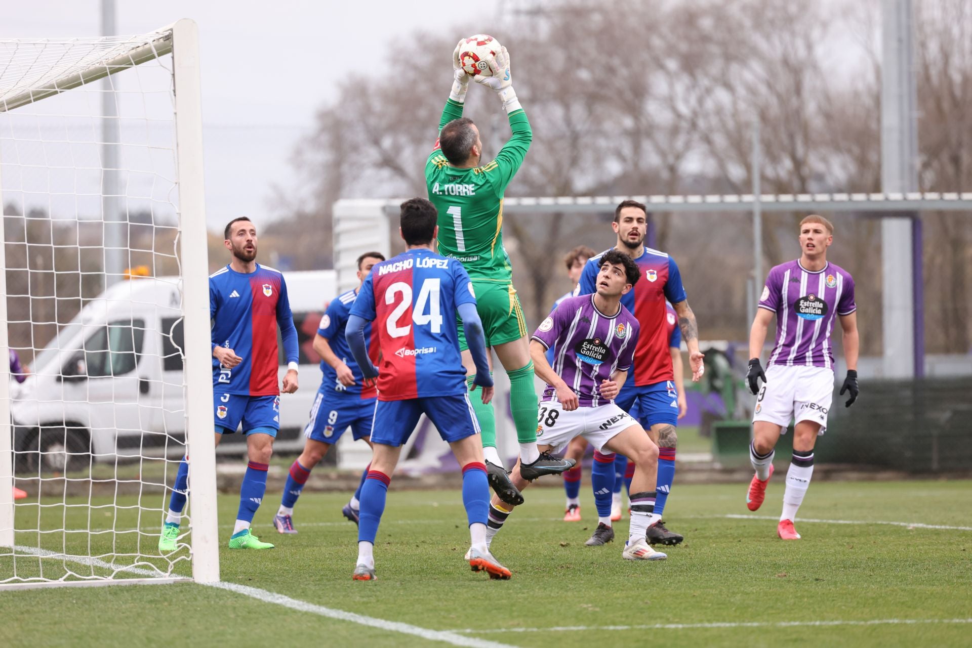
[(756, 396), (752, 421), (768, 421), (786, 433), (790, 421), (813, 421), (827, 428), (827, 413), (834, 397), (834, 372), (826, 367), (786, 366), (766, 368), (766, 384)]

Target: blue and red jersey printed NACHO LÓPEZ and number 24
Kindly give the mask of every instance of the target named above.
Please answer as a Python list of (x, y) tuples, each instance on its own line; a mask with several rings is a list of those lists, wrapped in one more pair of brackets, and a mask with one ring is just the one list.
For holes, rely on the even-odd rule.
[(475, 303), (454, 258), (415, 248), (376, 263), (351, 315), (371, 322), (378, 338), (378, 400), (465, 393), (456, 309)]

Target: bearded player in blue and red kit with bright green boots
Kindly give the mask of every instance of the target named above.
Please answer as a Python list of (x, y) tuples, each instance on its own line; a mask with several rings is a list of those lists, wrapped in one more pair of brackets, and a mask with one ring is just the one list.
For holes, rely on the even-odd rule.
[[(280, 392), (297, 391), (297, 330), (284, 276), (257, 263), (256, 225), (247, 218), (233, 219), (226, 225), (225, 238), (232, 259), (209, 277), (213, 423), (216, 445), (242, 424), (249, 458), (229, 548), (271, 549), (272, 544), (250, 532), (250, 525), (266, 492), (266, 469), (280, 429)], [(278, 326), (288, 366), (282, 388), (277, 384)], [(177, 548), (188, 481), (189, 463), (184, 458), (158, 539), (160, 552)]]

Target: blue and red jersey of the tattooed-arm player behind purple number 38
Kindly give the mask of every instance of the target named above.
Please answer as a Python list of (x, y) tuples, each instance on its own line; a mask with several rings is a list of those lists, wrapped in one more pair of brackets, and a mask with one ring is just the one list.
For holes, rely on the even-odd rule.
[[(611, 248), (613, 249), (613, 248)], [(605, 252), (608, 252), (607, 250)], [(587, 260), (580, 274), (578, 294), (595, 291), (601, 256)], [(666, 325), (665, 300), (673, 304), (684, 301), (685, 288), (681, 285), (681, 273), (675, 259), (651, 248), (644, 248), (642, 256), (635, 259), (642, 270), (642, 277), (633, 290), (621, 295), (621, 304), (635, 314), (642, 325), (638, 346), (635, 348), (635, 362), (630, 376), (635, 385), (655, 385), (675, 380), (672, 369), (672, 354), (669, 351), (669, 329)]]

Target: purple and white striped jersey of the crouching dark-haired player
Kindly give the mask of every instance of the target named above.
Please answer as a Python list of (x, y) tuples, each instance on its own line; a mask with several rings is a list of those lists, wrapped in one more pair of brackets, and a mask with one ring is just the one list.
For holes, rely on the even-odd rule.
[[(601, 381), (631, 368), (638, 331), (638, 320), (624, 306), (608, 317), (594, 305), (593, 294), (584, 294), (561, 301), (533, 339), (556, 349), (551, 366), (577, 394), (579, 406), (598, 407), (610, 402), (601, 396)], [(547, 385), (540, 400), (556, 402), (557, 390)]]

